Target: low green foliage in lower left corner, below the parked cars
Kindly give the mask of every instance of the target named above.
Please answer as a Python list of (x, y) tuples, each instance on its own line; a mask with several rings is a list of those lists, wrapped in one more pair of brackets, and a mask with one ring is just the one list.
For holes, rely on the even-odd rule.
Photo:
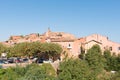
[(55, 76), (55, 70), (50, 64), (0, 69), (0, 80), (54, 80)]

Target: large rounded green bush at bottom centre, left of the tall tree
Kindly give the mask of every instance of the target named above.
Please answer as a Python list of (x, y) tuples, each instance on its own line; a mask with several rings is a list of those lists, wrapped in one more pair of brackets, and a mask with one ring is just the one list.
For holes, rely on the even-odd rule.
[(88, 80), (89, 75), (87, 63), (79, 59), (69, 59), (62, 62), (58, 72), (59, 80)]

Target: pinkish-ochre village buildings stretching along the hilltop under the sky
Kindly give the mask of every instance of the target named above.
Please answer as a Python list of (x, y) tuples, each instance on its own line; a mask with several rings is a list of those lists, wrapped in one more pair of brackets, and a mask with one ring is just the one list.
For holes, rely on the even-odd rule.
[(82, 38), (76, 38), (74, 35), (65, 32), (52, 32), (48, 29), (43, 34), (32, 33), (25, 36), (11, 36), (9, 40), (2, 42), (5, 45), (11, 46), (22, 42), (48, 42), (58, 43), (62, 48), (69, 51), (70, 56), (78, 56), (81, 53), (81, 47), (85, 52), (93, 45), (98, 44), (102, 51), (108, 49), (112, 54), (120, 54), (120, 44), (110, 41), (108, 37), (99, 34), (92, 34)]

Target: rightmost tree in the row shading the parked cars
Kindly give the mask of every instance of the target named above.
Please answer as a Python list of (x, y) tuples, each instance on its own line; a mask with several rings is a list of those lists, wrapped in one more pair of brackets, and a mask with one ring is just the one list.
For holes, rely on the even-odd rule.
[(39, 57), (44, 57), (44, 58), (52, 57), (53, 60), (56, 60), (60, 57), (61, 52), (62, 52), (62, 48), (58, 44), (42, 43), (40, 46)]

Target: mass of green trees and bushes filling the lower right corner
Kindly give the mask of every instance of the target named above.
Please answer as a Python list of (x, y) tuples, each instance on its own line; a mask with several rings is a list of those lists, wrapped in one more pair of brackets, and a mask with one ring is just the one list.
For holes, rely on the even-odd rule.
[(99, 45), (84, 52), (80, 59), (68, 59), (60, 64), (59, 80), (120, 80), (120, 56), (111, 55), (109, 50), (102, 53)]

